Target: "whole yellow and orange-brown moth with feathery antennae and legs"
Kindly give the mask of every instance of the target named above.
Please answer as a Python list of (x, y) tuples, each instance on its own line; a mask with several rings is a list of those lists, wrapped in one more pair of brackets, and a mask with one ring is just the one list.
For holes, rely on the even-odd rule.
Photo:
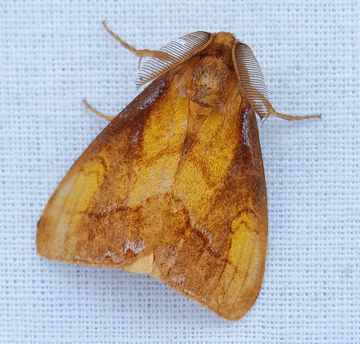
[[(148, 273), (229, 320), (260, 291), (267, 243), (255, 113), (276, 112), (251, 49), (197, 31), (150, 56), (155, 79), (73, 164), (37, 225), (50, 259)], [(91, 110), (96, 112), (90, 106)]]

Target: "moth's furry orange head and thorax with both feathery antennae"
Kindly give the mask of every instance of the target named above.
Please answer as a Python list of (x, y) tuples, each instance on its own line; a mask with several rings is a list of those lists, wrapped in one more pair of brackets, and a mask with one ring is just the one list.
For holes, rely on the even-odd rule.
[(245, 97), (260, 118), (273, 113), (264, 76), (250, 47), (228, 32), (196, 31), (171, 41), (141, 67), (136, 87), (173, 72), (179, 95), (203, 107), (230, 110)]

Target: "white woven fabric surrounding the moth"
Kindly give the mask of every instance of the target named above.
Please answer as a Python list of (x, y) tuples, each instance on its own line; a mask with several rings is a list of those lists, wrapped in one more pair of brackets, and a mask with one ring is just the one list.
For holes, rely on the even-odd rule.
[[(0, 343), (360, 343), (359, 2), (1, 1)], [(260, 126), (264, 282), (230, 322), (147, 275), (50, 261), (36, 224), (72, 163), (137, 94), (138, 49), (230, 31), (279, 112)]]

